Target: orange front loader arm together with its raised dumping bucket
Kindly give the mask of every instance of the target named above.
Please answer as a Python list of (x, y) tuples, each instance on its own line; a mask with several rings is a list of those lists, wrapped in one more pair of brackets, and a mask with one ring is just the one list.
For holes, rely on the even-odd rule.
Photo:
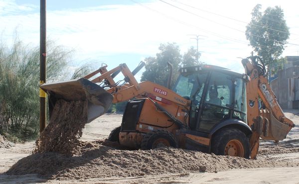
[[(182, 108), (187, 108), (190, 105), (190, 100), (163, 86), (149, 81), (138, 83), (134, 75), (144, 66), (145, 63), (141, 62), (131, 72), (126, 64), (121, 64), (109, 71), (107, 65), (102, 65), (98, 70), (80, 79), (41, 85), (40, 88), (49, 97), (50, 117), (56, 101), (60, 99), (67, 101), (83, 100), (82, 105), (87, 108), (87, 120), (84, 123), (89, 123), (103, 115), (111, 103), (127, 101), (134, 97), (151, 98), (168, 104), (173, 103)], [(114, 78), (120, 73), (123, 74), (124, 79), (115, 82)], [(176, 124), (182, 123), (174, 121), (178, 122)]]

